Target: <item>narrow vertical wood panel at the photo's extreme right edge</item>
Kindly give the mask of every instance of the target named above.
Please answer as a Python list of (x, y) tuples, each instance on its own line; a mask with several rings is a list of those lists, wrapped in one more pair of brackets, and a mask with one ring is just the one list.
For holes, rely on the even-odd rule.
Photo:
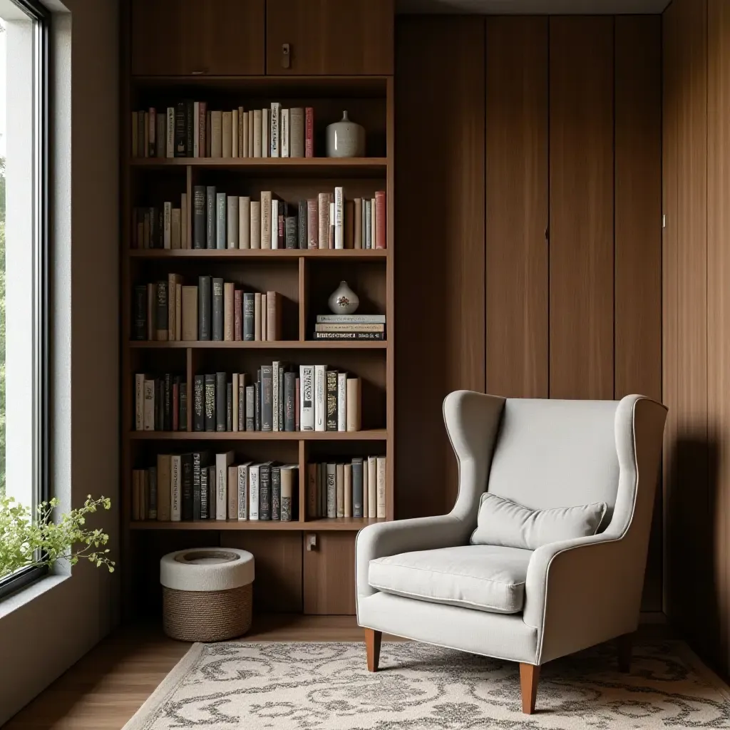
[[(730, 667), (730, 6), (708, 0), (707, 17), (707, 435), (717, 452), (710, 484), (716, 661)], [(712, 466), (712, 464), (710, 464)], [(708, 477), (712, 476), (712, 469)]]

